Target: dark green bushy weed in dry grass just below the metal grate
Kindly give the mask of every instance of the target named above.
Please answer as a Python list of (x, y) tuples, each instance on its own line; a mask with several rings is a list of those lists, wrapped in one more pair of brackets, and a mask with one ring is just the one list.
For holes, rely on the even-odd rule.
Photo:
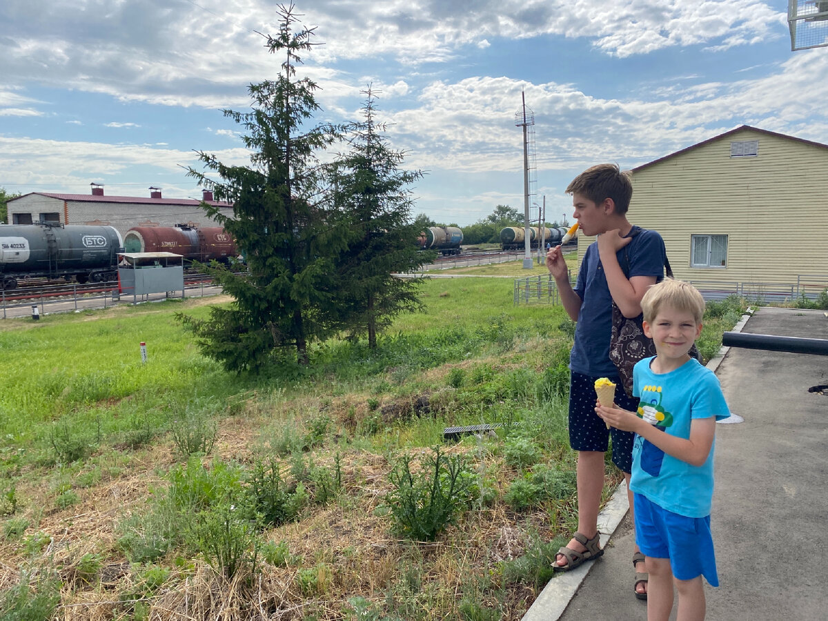
[(462, 455), (446, 457), (440, 447), (418, 474), (404, 455), (388, 474), (393, 489), (386, 497), (395, 527), (417, 541), (431, 541), (469, 500), (472, 474)]

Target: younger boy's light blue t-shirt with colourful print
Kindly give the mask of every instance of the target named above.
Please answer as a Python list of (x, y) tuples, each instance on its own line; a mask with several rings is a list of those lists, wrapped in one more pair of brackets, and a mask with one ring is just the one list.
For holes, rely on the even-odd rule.
[[(730, 415), (719, 378), (696, 359), (670, 373), (653, 373), (652, 358), (633, 368), (633, 396), (639, 397), (638, 416), (671, 436), (690, 438), (694, 418), (716, 420)], [(633, 472), (629, 487), (659, 507), (686, 517), (707, 517), (713, 502), (713, 452), (694, 466), (667, 455), (652, 442), (635, 436)]]

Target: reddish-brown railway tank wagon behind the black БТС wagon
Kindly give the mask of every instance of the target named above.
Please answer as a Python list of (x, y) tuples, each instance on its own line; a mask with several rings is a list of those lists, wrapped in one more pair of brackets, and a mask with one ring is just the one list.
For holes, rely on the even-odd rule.
[(233, 238), (221, 227), (137, 226), (123, 236), (127, 253), (176, 253), (189, 261), (226, 261), (236, 256)]

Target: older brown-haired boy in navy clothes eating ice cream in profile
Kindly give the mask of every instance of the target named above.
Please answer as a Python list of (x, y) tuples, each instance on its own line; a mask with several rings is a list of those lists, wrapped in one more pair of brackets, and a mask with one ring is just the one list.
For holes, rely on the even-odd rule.
[[(629, 398), (609, 359), (612, 330), (611, 302), (623, 315), (641, 313), (647, 287), (663, 277), (666, 251), (661, 235), (633, 227), (627, 209), (633, 195), (629, 177), (613, 164), (592, 166), (575, 177), (566, 192), (572, 195), (572, 217), (585, 235), (598, 235), (586, 249), (575, 288), (570, 285), (561, 247), (546, 253), (546, 267), (555, 278), (567, 314), (578, 322), (570, 354), (570, 446), (578, 451), (578, 532), (556, 556), (552, 567), (566, 571), (603, 554), (599, 547), (598, 509), (604, 488), (604, 453), (613, 440), (613, 462), (629, 482), (633, 434), (607, 431), (595, 414), (595, 379), (614, 378), (619, 388), (615, 402), (634, 410), (638, 399)], [(633, 230), (635, 229), (635, 230)], [(631, 234), (632, 233), (632, 234)], [(638, 234), (636, 234), (638, 233)], [(633, 509), (630, 493), (630, 509)], [(636, 552), (634, 559), (640, 560)], [(636, 561), (633, 561), (633, 563)], [(639, 598), (646, 598), (646, 574), (636, 581)]]

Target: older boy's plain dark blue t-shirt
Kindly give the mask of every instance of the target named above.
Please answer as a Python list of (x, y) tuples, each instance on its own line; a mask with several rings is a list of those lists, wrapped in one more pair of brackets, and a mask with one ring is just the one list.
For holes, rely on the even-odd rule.
[[(636, 227), (637, 228), (637, 227)], [(624, 258), (627, 253), (629, 262)], [(627, 277), (649, 276), (661, 281), (664, 277), (664, 258), (667, 250), (656, 231), (641, 229), (633, 241), (618, 253), (619, 265)], [(629, 266), (629, 269), (627, 269)], [(570, 354), (570, 369), (593, 378), (618, 378), (618, 368), (609, 359), (609, 338), (612, 335), (612, 297), (607, 277), (598, 254), (598, 243), (586, 249), (580, 264), (575, 293), (581, 299), (575, 344)]]

